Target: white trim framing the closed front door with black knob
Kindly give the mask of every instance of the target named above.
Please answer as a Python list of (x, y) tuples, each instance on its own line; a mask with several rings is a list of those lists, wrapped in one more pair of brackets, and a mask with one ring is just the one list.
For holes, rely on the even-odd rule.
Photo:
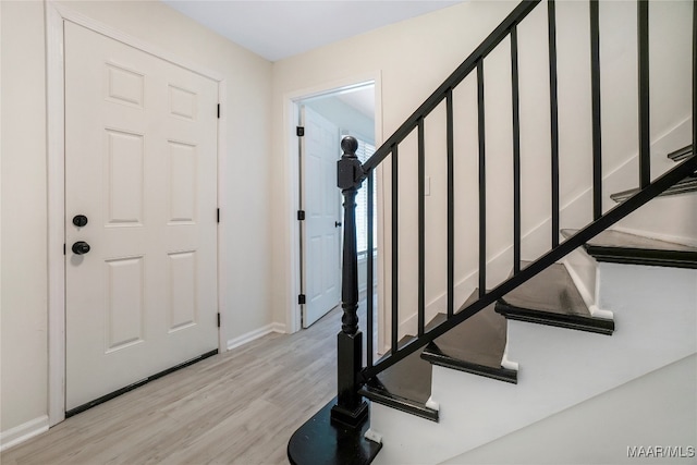
[[(49, 426), (65, 419), (65, 98), (64, 98), (64, 40), (65, 21), (78, 24), (146, 53), (182, 66), (218, 83), (218, 99), (227, 102), (224, 76), (207, 68), (175, 56), (139, 38), (85, 16), (54, 0), (46, 2), (46, 89), (47, 89), (47, 194), (48, 194), (48, 418)], [(227, 146), (225, 113), (218, 120), (217, 183), (220, 204), (221, 154)], [(220, 309), (220, 225), (218, 225), (217, 277), (218, 308)], [(227, 350), (223, 334), (225, 318), (218, 329), (218, 350)]]

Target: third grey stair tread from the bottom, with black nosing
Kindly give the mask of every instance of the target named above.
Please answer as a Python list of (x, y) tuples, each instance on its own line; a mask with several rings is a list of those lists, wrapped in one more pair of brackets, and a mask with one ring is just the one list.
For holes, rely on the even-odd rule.
[(496, 309), (506, 318), (611, 334), (612, 320), (590, 314), (568, 271), (554, 264), (508, 293)]

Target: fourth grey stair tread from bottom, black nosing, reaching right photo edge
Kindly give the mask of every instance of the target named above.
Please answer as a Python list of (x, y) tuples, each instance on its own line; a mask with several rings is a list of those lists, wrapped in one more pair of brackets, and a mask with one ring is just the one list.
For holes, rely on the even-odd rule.
[[(562, 230), (564, 237), (570, 237), (574, 233), (575, 231), (573, 230)], [(636, 243), (627, 246), (603, 243), (608, 234), (613, 234), (615, 238), (622, 238), (623, 236), (628, 240), (637, 237), (644, 240), (646, 246), (639, 246)], [(673, 244), (620, 231), (603, 231), (585, 243), (583, 247), (588, 255), (601, 262), (697, 269), (697, 247)]]

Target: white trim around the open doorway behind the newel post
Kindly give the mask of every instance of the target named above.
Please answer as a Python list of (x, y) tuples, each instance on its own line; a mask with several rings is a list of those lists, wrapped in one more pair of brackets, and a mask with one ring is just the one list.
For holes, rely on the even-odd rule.
[[(318, 97), (325, 94), (332, 94), (344, 88), (356, 87), (372, 83), (375, 85), (375, 143), (379, 147), (382, 143), (382, 76), (380, 71), (363, 73), (344, 79), (323, 83), (314, 87), (290, 91), (283, 96), (283, 127), (284, 127), (284, 147), (285, 157), (283, 159), (285, 169), (285, 205), (284, 216), (286, 218), (286, 258), (288, 264), (288, 281), (285, 286), (285, 330), (288, 333), (294, 333), (302, 328), (301, 313), (302, 308), (298, 304), (297, 296), (301, 294), (301, 254), (299, 254), (299, 228), (297, 228), (297, 210), (299, 209), (299, 170), (298, 157), (299, 147), (295, 130), (297, 125), (297, 114), (299, 102), (302, 100)], [(377, 171), (378, 180), (381, 179), (381, 170)], [(378, 181), (378, 211), (384, 211), (382, 208), (382, 182)], [(342, 210), (343, 211), (343, 210)], [(378, 213), (378, 247), (383, 243), (381, 227), (383, 219), (382, 213)], [(381, 255), (378, 256), (378, 302), (382, 306), (383, 293), (381, 292), (382, 283), (381, 272), (383, 266)], [(337, 329), (339, 330), (339, 328)]]

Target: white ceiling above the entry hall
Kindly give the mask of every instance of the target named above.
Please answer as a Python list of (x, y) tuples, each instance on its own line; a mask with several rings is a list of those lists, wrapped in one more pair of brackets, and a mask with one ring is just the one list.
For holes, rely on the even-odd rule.
[(162, 0), (233, 42), (278, 61), (464, 0)]

